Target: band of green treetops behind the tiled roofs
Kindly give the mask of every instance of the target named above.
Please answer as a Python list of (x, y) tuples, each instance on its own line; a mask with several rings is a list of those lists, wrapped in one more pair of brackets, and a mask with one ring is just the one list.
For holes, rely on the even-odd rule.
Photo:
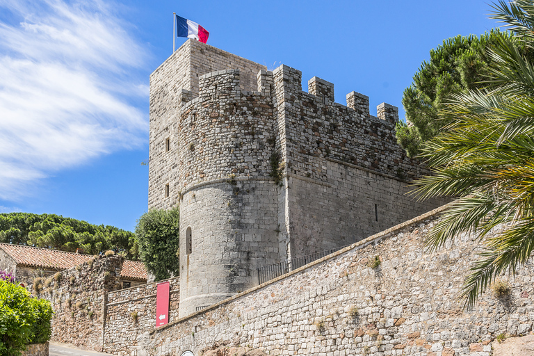
[(55, 214), (0, 213), (0, 242), (70, 252), (82, 248), (87, 254), (113, 250), (138, 259), (133, 233)]

